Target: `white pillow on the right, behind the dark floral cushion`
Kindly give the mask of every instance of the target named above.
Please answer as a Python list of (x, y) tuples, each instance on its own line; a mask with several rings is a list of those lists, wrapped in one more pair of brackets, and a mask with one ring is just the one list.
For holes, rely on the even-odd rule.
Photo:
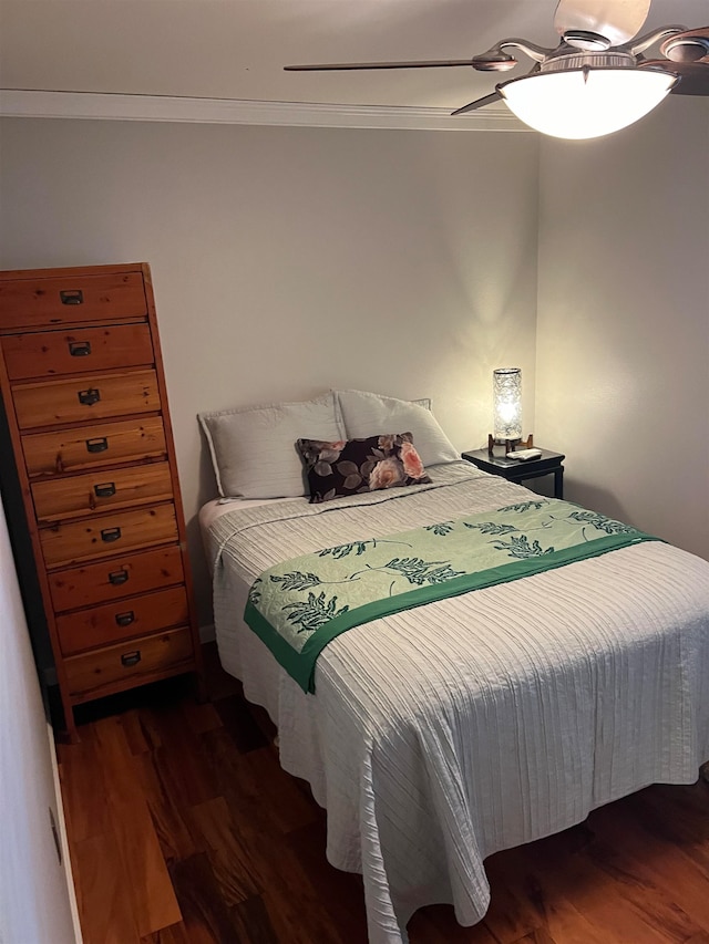
[(348, 439), (382, 433), (411, 433), (424, 466), (460, 461), (460, 454), (427, 409), (430, 401), (411, 402), (359, 390), (336, 391)]

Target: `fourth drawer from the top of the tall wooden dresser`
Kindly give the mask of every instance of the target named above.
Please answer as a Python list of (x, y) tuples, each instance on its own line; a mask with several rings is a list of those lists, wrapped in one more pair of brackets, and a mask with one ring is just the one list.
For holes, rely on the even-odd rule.
[(22, 449), (30, 478), (167, 455), (160, 416), (32, 433), (22, 437)]

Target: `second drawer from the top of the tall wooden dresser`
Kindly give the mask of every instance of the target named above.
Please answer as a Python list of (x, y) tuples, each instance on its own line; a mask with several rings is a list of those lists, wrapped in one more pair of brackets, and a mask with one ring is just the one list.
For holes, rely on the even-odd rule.
[(1, 343), (11, 381), (138, 367), (155, 360), (147, 324), (7, 334)]

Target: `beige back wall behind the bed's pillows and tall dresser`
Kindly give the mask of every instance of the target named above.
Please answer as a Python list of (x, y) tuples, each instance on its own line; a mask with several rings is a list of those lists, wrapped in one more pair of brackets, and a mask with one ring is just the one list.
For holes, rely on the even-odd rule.
[(147, 261), (203, 620), (195, 415), (353, 386), (482, 445), (492, 370), (534, 418), (531, 134), (4, 120), (1, 268)]

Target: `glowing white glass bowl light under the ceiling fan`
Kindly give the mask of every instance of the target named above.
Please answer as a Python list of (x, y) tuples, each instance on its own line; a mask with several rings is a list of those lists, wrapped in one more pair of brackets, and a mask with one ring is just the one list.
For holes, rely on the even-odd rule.
[(556, 69), (497, 85), (520, 121), (552, 137), (613, 134), (651, 112), (678, 82), (664, 69)]

